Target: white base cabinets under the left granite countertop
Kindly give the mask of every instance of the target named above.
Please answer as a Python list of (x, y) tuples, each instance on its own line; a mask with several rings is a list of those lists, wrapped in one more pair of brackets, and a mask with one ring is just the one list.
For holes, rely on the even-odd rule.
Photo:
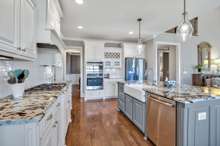
[(65, 146), (71, 119), (70, 89), (56, 99), (39, 122), (0, 125), (0, 146)]

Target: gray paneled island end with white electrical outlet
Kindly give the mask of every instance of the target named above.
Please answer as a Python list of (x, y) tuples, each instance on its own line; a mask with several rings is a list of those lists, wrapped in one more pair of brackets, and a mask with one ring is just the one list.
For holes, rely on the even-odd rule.
[(177, 104), (177, 146), (220, 146), (220, 100)]

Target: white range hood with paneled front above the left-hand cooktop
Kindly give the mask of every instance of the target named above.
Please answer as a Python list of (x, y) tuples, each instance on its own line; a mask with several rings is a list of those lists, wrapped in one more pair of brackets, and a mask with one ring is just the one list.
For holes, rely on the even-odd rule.
[[(38, 32), (37, 41), (40, 43), (56, 44), (52, 37), (60, 39), (60, 21), (63, 16), (58, 0), (38, 0)], [(60, 39), (61, 40), (61, 39)]]

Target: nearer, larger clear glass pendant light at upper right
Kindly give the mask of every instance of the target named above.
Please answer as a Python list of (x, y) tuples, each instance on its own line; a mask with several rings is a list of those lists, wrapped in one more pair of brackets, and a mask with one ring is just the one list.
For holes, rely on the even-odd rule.
[(192, 37), (193, 26), (188, 18), (188, 13), (186, 12), (186, 0), (184, 0), (184, 12), (183, 12), (183, 22), (177, 27), (177, 34), (181, 37), (182, 41), (187, 41)]

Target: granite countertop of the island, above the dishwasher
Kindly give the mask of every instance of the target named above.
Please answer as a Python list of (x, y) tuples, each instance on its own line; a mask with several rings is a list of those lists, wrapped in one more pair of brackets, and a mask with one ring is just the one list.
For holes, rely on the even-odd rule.
[(213, 87), (181, 85), (167, 88), (164, 87), (163, 83), (160, 83), (157, 86), (145, 83), (143, 90), (181, 103), (194, 103), (198, 101), (218, 99), (220, 97), (220, 89)]

